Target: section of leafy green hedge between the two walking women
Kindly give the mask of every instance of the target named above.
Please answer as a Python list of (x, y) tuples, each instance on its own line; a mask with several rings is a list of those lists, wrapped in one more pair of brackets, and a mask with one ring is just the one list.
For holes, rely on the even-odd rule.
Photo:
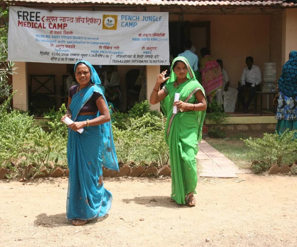
[(150, 112), (142, 117), (128, 118), (125, 129), (113, 125), (113, 137), (118, 159), (124, 163), (133, 161), (140, 165), (151, 162), (159, 166), (169, 164), (169, 148), (165, 141), (166, 119), (152, 116)]

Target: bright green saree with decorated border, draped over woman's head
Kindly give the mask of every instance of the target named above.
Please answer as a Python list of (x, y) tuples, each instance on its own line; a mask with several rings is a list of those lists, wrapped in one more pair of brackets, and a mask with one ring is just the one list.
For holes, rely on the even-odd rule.
[[(188, 68), (188, 80), (174, 87), (176, 74), (173, 72), (173, 64), (182, 61)], [(203, 87), (196, 80), (195, 74), (186, 58), (177, 57), (171, 65), (170, 78), (163, 87), (168, 96), (161, 102), (164, 114), (167, 116), (165, 139), (169, 146), (170, 165), (172, 177), (171, 199), (178, 204), (185, 204), (191, 195), (195, 193), (197, 186), (196, 156), (198, 143), (202, 139), (202, 127), (206, 111), (177, 111), (173, 114), (173, 102), (175, 93), (180, 93), (180, 100), (186, 103), (197, 103), (195, 93)]]

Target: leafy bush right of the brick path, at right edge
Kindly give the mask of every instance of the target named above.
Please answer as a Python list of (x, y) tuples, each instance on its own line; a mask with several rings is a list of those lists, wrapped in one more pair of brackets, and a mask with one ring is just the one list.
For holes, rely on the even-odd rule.
[[(264, 133), (263, 138), (244, 140), (245, 144), (251, 148), (249, 156), (259, 163), (255, 170), (267, 170), (272, 164), (281, 166), (290, 163), (297, 155), (297, 139), (294, 138), (296, 131), (285, 131), (282, 135), (277, 133)], [(262, 168), (257, 168), (261, 166)]]

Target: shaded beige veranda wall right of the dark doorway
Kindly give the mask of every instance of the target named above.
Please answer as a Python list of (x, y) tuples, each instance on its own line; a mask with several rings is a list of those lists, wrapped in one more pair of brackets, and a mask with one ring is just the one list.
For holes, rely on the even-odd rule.
[[(178, 16), (170, 15), (170, 20)], [(237, 88), (247, 56), (263, 71), (268, 61), (270, 15), (184, 15), (184, 20), (211, 22), (211, 56), (224, 61), (232, 87)]]

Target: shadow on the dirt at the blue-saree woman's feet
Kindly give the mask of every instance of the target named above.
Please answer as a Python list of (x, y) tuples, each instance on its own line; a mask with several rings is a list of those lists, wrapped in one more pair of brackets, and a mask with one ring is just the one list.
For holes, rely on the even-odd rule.
[[(108, 218), (108, 214), (102, 218), (92, 219), (87, 224), (95, 224), (97, 222), (104, 221)], [(36, 220), (34, 221), (34, 225), (37, 227), (62, 227), (72, 225), (71, 221), (66, 218), (66, 213), (60, 213), (55, 215), (47, 215), (46, 213), (41, 213), (36, 216)]]

